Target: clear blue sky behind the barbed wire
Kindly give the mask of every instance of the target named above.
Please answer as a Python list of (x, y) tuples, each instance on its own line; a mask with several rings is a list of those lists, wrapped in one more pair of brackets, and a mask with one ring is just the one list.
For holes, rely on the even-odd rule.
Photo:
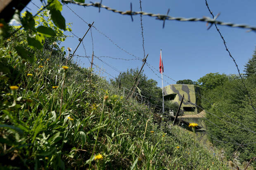
[[(32, 0), (36, 5), (41, 6), (40, 0)], [(85, 0), (86, 3), (90, 1)], [(97, 1), (93, 1), (97, 2)], [(102, 4), (121, 11), (130, 10), (130, 2), (133, 4), (133, 11), (140, 11), (139, 0), (103, 0)], [(256, 26), (256, 1), (255, 0), (208, 0), (208, 4), (213, 14), (220, 12), (217, 20), (246, 23), (250, 26)], [(86, 22), (92, 23), (102, 33), (107, 35), (111, 40), (118, 44), (119, 47), (125, 49), (130, 54), (143, 58), (142, 36), (140, 28), (140, 16), (133, 16), (134, 21), (131, 21), (130, 16), (124, 16), (113, 13), (106, 9), (95, 7), (82, 7), (78, 5), (68, 4), (79, 16)], [(36, 13), (37, 7), (31, 2), (27, 6), (33, 14)], [(204, 0), (142, 0), (142, 11), (152, 12), (155, 14), (166, 14), (170, 8), (170, 16), (182, 17), (198, 17), (211, 16)], [(88, 29), (86, 23), (78, 18), (67, 7), (63, 6), (62, 15), (66, 19), (66, 23), (72, 23), (71, 29), (78, 37), (83, 37)], [(162, 49), (162, 58), (164, 63), (164, 74), (178, 81), (181, 79), (192, 79), (196, 81), (210, 72), (219, 72), (225, 74), (237, 74), (237, 69), (234, 62), (225, 50), (224, 44), (214, 26), (207, 30), (204, 22), (180, 22), (166, 21), (163, 29), (163, 21), (156, 20), (149, 16), (142, 16), (145, 38), (145, 52), (149, 54), (147, 62), (159, 67), (159, 54)], [(256, 33), (247, 33), (245, 29), (231, 28), (227, 26), (218, 26), (227, 42), (228, 49), (235, 58), (241, 72), (244, 70), (244, 65), (248, 62), (254, 53), (256, 46)], [(72, 35), (66, 32), (66, 35)], [(94, 43), (95, 56), (113, 56), (126, 59), (132, 59), (133, 56), (122, 51), (104, 35), (92, 29), (92, 37)], [(61, 44), (64, 47), (75, 49), (78, 45), (76, 37), (69, 37)], [(92, 40), (90, 32), (84, 39), (87, 56), (92, 55)], [(78, 48), (76, 54), (85, 56), (83, 46)], [(126, 71), (130, 68), (141, 67), (142, 61), (132, 60), (115, 60), (111, 58), (101, 58), (104, 62), (114, 66), (118, 71)], [(81, 66), (89, 67), (90, 63), (87, 58), (75, 58)], [(95, 65), (104, 69), (109, 74), (119, 75), (118, 71), (110, 68), (102, 63), (97, 58), (94, 59)], [(95, 66), (94, 66), (95, 68)], [(95, 69), (99, 72), (99, 69)], [(155, 75), (147, 65), (144, 66), (144, 73), (147, 77), (154, 79), (161, 86), (161, 74), (159, 69), (154, 70)], [(102, 76), (107, 79), (112, 78), (106, 73), (100, 71)], [(175, 84), (174, 81), (164, 77), (164, 86)]]

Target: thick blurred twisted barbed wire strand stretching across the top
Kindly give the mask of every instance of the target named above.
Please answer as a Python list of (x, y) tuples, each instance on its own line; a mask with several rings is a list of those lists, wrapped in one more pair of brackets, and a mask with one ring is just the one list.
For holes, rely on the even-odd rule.
[[(81, 2), (75, 2), (75, 1), (71, 1), (71, 0), (63, 0), (64, 2), (69, 2), (69, 3), (73, 3), (73, 4), (77, 4), (77, 5), (81, 5), (81, 6), (87, 6), (87, 7), (97, 7), (95, 4), (88, 4), (88, 3), (81, 3)], [(245, 29), (251, 29), (253, 31), (256, 31), (256, 27), (253, 26), (248, 26), (245, 24), (236, 24), (236, 23), (225, 23), (222, 21), (217, 21), (217, 20), (213, 20), (209, 17), (203, 17), (203, 18), (183, 18), (183, 17), (173, 17), (173, 16), (166, 16), (163, 14), (153, 14), (153, 13), (147, 13), (147, 12), (131, 12), (130, 11), (119, 11), (116, 9), (112, 9), (110, 7), (107, 7), (105, 5), (101, 5), (102, 8), (105, 8), (109, 11), (115, 12), (115, 13), (119, 13), (122, 15), (137, 15), (137, 14), (142, 14), (142, 15), (147, 15), (147, 16), (151, 16), (151, 17), (155, 17), (156, 19), (159, 20), (163, 20), (164, 18), (167, 20), (176, 20), (176, 21), (201, 21), (201, 22), (208, 22), (208, 23), (216, 23), (219, 24), (221, 26), (229, 26), (229, 27), (238, 27), (238, 28), (245, 28)]]

